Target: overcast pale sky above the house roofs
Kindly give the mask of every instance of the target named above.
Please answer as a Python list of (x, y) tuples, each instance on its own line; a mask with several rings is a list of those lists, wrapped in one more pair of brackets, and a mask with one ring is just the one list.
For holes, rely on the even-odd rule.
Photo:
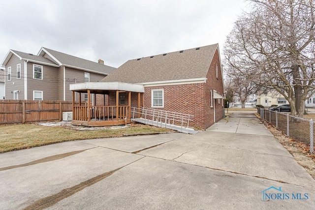
[(119, 67), (130, 59), (219, 43), (244, 0), (0, 0), (0, 62), (40, 47)]

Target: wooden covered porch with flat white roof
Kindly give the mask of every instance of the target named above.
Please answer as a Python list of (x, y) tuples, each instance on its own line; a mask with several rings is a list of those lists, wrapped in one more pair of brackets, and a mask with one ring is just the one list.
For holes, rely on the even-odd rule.
[(79, 83), (71, 84), (70, 90), (73, 125), (123, 125), (131, 122), (131, 106), (144, 106), (143, 85), (121, 82)]

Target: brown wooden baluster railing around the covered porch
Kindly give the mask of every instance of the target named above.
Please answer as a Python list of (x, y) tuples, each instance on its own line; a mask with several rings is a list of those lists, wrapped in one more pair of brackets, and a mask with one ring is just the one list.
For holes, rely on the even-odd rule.
[(129, 106), (74, 106), (73, 120), (124, 120), (129, 118)]

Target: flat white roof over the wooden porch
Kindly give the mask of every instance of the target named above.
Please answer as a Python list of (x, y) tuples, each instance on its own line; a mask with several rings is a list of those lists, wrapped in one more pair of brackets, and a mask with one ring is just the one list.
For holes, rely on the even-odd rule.
[(84, 92), (87, 90), (106, 91), (106, 90), (123, 90), (130, 92), (144, 92), (144, 86), (139, 84), (123, 82), (90, 82), (70, 84), (70, 90)]

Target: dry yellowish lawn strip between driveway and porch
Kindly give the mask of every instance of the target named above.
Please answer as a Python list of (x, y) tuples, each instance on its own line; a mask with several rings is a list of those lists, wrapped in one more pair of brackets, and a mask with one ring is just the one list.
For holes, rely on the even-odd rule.
[(167, 128), (135, 125), (120, 129), (73, 130), (35, 124), (0, 125), (0, 152), (22, 150), (59, 142), (122, 137), (124, 134), (169, 132)]

